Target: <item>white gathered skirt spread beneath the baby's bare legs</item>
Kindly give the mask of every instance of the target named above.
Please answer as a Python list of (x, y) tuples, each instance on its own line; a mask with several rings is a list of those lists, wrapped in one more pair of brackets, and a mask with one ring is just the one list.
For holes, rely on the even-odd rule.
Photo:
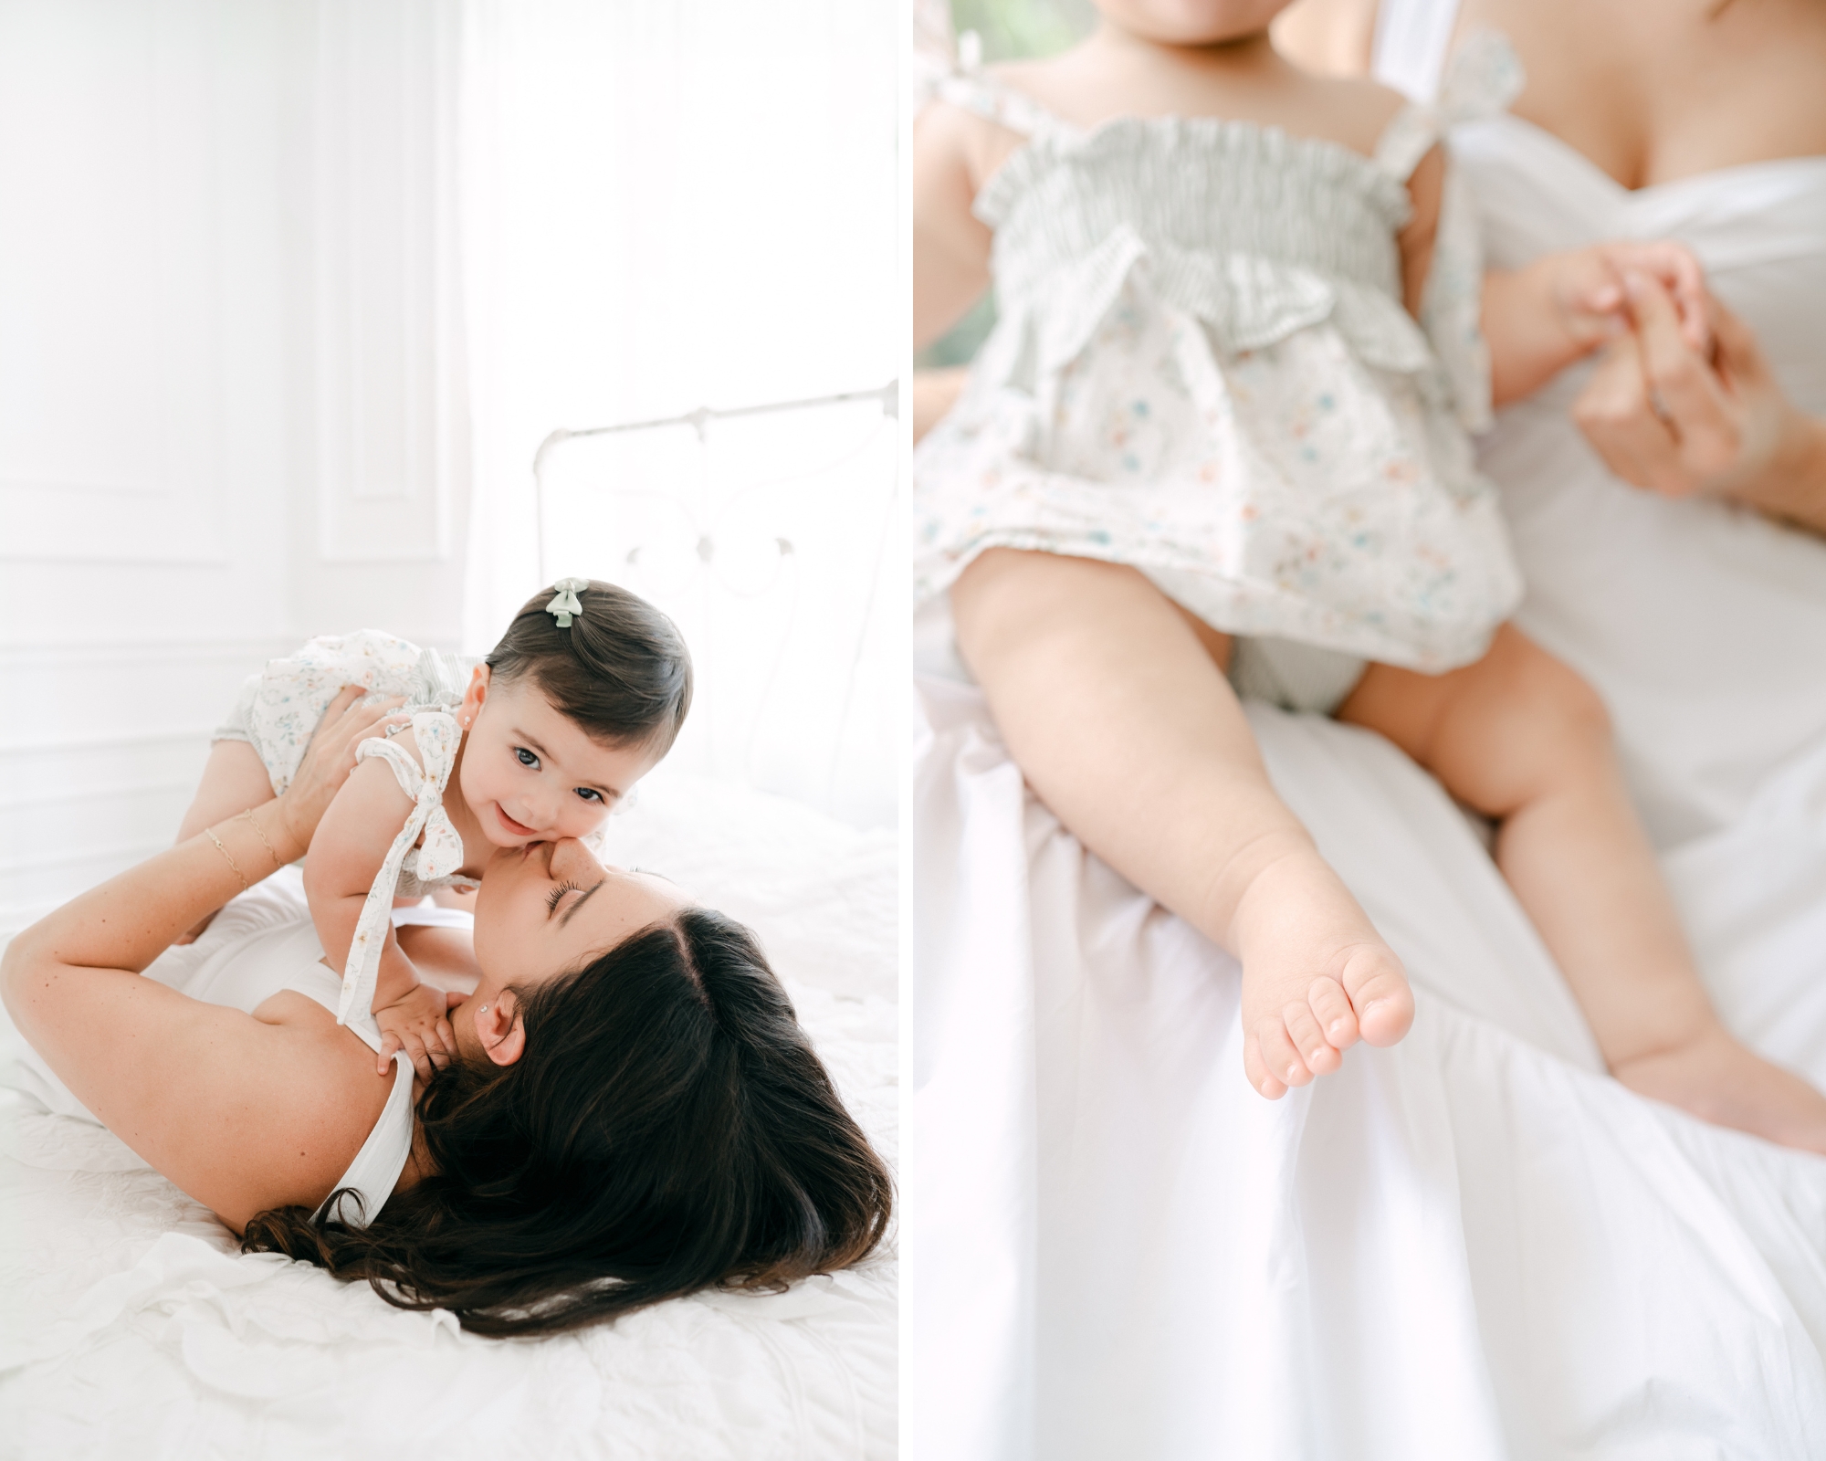
[[(1269, 1103), (1236, 964), (1059, 827), (942, 659), (913, 807), (915, 1461), (1826, 1456), (1826, 1161), (1603, 1076), (1430, 778), (1251, 707), (1419, 1004)], [(1726, 1017), (1826, 1083), (1826, 747), (1667, 871)]]

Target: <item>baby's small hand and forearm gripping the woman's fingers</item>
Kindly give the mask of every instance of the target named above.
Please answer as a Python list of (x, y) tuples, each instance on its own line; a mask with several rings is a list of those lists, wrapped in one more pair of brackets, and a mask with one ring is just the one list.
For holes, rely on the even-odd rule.
[(1680, 305), (1687, 343), (1711, 349), (1705, 276), (1678, 243), (1596, 243), (1485, 274), (1483, 332), (1492, 405), (1532, 394), (1627, 329), (1627, 278), (1658, 279)]

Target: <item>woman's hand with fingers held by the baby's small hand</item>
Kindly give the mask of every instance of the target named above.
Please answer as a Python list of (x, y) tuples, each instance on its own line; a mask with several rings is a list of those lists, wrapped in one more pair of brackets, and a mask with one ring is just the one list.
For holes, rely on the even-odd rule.
[(1826, 526), (1826, 426), (1788, 402), (1755, 332), (1713, 300), (1707, 360), (1660, 283), (1632, 270), (1625, 287), (1631, 332), (1572, 404), (1605, 466), (1665, 497), (1735, 497)]

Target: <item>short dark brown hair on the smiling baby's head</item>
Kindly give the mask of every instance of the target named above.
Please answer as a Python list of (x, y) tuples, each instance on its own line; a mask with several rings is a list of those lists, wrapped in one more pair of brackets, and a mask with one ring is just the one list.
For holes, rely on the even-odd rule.
[(577, 590), (581, 614), (561, 628), (542, 588), (513, 615), (484, 661), (502, 683), (531, 679), (559, 712), (606, 745), (672, 749), (690, 710), (690, 650), (646, 599), (601, 579)]

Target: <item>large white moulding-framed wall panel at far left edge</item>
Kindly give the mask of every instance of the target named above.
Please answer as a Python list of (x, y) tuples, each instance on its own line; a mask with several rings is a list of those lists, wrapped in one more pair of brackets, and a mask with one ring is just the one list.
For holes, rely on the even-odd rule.
[(0, 559), (226, 555), (212, 9), (0, 7)]

